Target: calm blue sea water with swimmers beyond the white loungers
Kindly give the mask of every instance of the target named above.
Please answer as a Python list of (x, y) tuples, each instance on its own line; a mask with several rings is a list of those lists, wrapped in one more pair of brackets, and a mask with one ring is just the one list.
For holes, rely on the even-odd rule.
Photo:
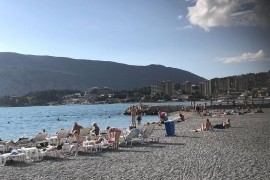
[[(61, 128), (71, 129), (74, 122), (84, 127), (92, 127), (92, 123), (97, 122), (101, 129), (107, 126), (127, 128), (131, 118), (123, 115), (123, 112), (131, 105), (138, 104), (2, 107), (0, 108), (0, 138), (17, 140), (22, 136), (32, 137), (43, 129), (49, 135), (54, 135)], [(143, 116), (142, 118), (142, 123), (152, 121), (158, 121), (158, 117)]]

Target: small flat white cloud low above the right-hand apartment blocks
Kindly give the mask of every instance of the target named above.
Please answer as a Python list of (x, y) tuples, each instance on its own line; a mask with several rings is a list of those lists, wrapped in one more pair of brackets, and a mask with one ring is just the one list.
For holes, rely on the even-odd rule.
[(257, 53), (244, 53), (236, 57), (221, 58), (220, 61), (223, 63), (241, 63), (241, 62), (252, 62), (252, 61), (263, 61), (269, 58), (263, 50), (259, 50)]

